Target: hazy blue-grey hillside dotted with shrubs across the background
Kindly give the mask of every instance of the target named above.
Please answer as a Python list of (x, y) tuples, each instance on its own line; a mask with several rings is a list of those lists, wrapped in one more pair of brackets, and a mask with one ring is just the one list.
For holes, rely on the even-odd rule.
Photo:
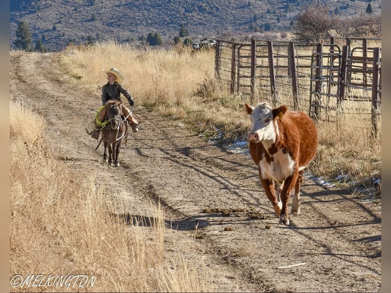
[[(373, 13), (381, 11), (381, 0), (319, 3), (346, 17), (365, 13), (369, 3)], [(170, 44), (181, 23), (193, 41), (252, 35), (250, 25), (258, 32), (284, 32), (308, 5), (319, 4), (310, 0), (16, 0), (10, 2), (10, 46), (20, 21), (28, 24), (34, 42), (42, 39), (50, 51), (61, 51), (71, 39), (136, 43), (149, 33), (159, 33)]]

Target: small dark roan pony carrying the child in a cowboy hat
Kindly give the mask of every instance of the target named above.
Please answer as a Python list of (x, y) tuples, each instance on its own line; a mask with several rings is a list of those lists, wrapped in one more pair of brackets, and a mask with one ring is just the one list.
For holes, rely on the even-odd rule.
[[(121, 111), (120, 101), (107, 101), (105, 107), (107, 113), (107, 124), (102, 129), (102, 140), (105, 149), (103, 153), (103, 159), (110, 165), (118, 167), (118, 155), (121, 147), (121, 142), (123, 139), (125, 139), (126, 143), (129, 127), (127, 120), (126, 118), (124, 118), (123, 113)], [(109, 151), (108, 157), (107, 150)]]

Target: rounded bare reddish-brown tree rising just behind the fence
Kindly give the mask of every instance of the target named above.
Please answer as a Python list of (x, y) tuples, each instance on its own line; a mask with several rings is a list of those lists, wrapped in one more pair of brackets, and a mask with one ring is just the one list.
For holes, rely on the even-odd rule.
[(310, 6), (297, 16), (295, 34), (300, 41), (323, 43), (333, 21), (326, 6)]

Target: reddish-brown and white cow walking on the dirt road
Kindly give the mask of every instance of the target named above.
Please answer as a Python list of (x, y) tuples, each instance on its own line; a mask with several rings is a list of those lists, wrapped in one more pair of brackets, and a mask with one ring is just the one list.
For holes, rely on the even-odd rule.
[(280, 216), (279, 223), (289, 225), (289, 194), (295, 186), (291, 213), (299, 214), (304, 168), (316, 154), (315, 124), (305, 113), (290, 111), (286, 106), (272, 109), (264, 102), (245, 107), (252, 120), (248, 136), (251, 157), (258, 166), (266, 196)]

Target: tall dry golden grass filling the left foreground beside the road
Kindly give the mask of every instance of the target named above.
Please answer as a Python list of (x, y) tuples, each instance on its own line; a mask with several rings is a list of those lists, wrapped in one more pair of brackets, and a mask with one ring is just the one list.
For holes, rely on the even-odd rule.
[[(69, 291), (211, 291), (207, 271), (190, 274), (178, 255), (164, 260), (164, 214), (151, 205), (152, 227), (124, 225), (95, 174), (73, 175), (46, 146), (45, 121), (10, 102), (10, 276), (94, 276)], [(10, 287), (65, 291), (66, 286)]]

